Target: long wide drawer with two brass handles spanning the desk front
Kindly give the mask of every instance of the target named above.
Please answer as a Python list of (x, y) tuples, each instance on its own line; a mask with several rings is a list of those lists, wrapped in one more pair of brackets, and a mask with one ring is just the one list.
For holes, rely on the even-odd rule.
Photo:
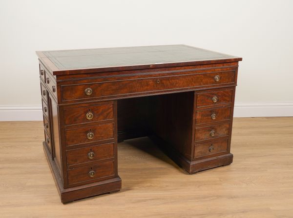
[(63, 85), (62, 101), (234, 83), (235, 71)]

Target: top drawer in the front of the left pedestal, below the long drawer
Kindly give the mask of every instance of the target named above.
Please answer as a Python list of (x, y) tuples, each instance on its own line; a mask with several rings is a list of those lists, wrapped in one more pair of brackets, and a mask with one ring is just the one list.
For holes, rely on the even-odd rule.
[(64, 109), (64, 124), (83, 124), (113, 119), (113, 104)]

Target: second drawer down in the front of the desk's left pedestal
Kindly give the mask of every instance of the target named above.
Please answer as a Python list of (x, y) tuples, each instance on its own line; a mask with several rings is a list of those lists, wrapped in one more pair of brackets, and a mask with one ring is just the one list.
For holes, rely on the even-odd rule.
[(66, 145), (93, 143), (114, 139), (114, 124), (102, 124), (65, 130)]

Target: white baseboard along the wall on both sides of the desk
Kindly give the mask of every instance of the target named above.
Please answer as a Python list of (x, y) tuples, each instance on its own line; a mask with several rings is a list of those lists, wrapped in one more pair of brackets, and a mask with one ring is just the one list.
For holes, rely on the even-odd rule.
[[(293, 102), (235, 103), (234, 117), (293, 116)], [(42, 120), (42, 106), (0, 106), (0, 121)]]

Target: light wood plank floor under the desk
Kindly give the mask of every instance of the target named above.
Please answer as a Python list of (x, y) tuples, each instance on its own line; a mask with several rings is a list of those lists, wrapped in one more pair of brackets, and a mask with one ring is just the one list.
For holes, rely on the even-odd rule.
[(293, 117), (236, 118), (232, 134), (234, 162), (194, 175), (148, 138), (120, 143), (122, 191), (63, 205), (42, 122), (0, 122), (0, 218), (292, 218)]

